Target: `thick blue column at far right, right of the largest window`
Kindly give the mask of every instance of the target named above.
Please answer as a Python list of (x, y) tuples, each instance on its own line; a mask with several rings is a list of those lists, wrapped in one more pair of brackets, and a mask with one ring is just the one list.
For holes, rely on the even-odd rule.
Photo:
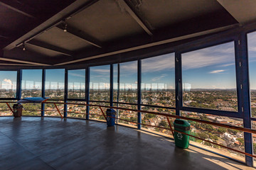
[[(247, 57), (247, 37), (245, 33), (241, 33), (239, 36), (238, 42), (235, 43), (235, 46), (238, 49), (238, 57), (240, 60), (239, 63), (239, 71), (241, 79), (240, 89), (242, 91), (242, 117), (244, 128), (252, 128), (251, 126), (251, 111), (250, 111), (250, 83), (249, 83), (249, 67), (248, 67), (248, 57)], [(252, 154), (252, 134), (244, 133), (245, 140), (245, 152), (248, 154)], [(245, 163), (247, 166), (253, 166), (252, 157), (245, 156)]]

